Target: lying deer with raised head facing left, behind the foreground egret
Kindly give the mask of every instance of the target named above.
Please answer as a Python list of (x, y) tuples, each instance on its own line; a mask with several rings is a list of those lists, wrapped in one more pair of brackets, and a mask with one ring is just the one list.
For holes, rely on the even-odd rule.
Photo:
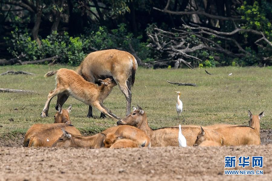
[[(131, 125), (141, 129), (150, 137), (152, 147), (158, 146), (179, 146), (178, 134), (179, 127), (165, 127), (151, 129), (147, 123), (147, 116), (140, 106), (133, 107), (133, 112), (126, 118), (117, 122), (117, 125)], [(182, 133), (186, 138), (188, 146), (193, 146), (196, 135), (200, 131), (200, 126), (183, 125)]]

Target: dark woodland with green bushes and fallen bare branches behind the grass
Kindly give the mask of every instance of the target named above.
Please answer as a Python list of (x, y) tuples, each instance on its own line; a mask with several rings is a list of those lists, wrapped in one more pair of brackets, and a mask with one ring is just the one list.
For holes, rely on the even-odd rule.
[[(78, 65), (89, 52), (115, 48), (136, 53), (141, 62), (167, 60), (165, 67), (173, 66), (180, 58), (191, 62), (192, 67), (272, 64), (271, 1), (0, 0), (0, 3), (0, 59), (24, 54), (22, 61), (39, 60), (58, 55), (57, 62)], [(196, 13), (177, 14), (185, 11)], [(234, 46), (233, 40), (224, 34), (203, 34), (183, 25), (216, 32), (232, 32), (237, 28), (250, 31), (234, 34), (231, 38), (238, 45)], [(262, 35), (265, 39), (261, 39)], [(187, 49), (205, 46), (190, 51), (189, 56), (171, 54), (169, 49), (180, 42)], [(161, 48), (159, 43), (168, 46)], [(180, 47), (182, 51), (187, 50), (184, 47)]]

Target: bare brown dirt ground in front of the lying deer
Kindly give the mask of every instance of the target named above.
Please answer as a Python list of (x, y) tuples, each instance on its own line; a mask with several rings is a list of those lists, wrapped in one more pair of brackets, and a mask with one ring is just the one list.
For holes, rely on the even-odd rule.
[[(0, 148), (1, 180), (271, 180), (272, 144), (128, 149)], [(264, 175), (224, 174), (225, 156), (264, 156)]]

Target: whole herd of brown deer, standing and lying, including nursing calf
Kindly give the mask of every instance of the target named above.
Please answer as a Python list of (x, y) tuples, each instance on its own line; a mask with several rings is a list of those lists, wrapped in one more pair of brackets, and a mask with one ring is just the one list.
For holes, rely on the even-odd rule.
[[(92, 52), (77, 71), (61, 68), (49, 71), (45, 77), (56, 75), (56, 88), (49, 92), (41, 117), (48, 116), (49, 104), (57, 96), (53, 124), (34, 124), (26, 132), (24, 147), (76, 148), (141, 148), (179, 146), (181, 131), (178, 126), (152, 129), (147, 114), (140, 107), (131, 107), (131, 86), (134, 84), (137, 61), (128, 52), (110, 49)], [(98, 84), (98, 86), (96, 85)], [(120, 119), (108, 110), (103, 100), (118, 85), (126, 98), (126, 117)], [(87, 117), (92, 117), (92, 106), (105, 115), (117, 119), (117, 126), (96, 135), (83, 136), (72, 125), (67, 109), (62, 106), (69, 96), (89, 105)], [(181, 110), (182, 111), (182, 110)], [(218, 124), (209, 126), (183, 125), (182, 134), (187, 146), (235, 146), (261, 144), (260, 119), (264, 112), (252, 115), (248, 110), (249, 125)]]

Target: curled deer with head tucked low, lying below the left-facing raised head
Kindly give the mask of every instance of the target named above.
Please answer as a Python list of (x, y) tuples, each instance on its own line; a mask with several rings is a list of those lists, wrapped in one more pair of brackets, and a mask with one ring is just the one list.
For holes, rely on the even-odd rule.
[(105, 134), (104, 147), (110, 148), (117, 140), (124, 138), (134, 141), (138, 146), (150, 147), (149, 136), (142, 130), (128, 125), (119, 126), (115, 133)]

